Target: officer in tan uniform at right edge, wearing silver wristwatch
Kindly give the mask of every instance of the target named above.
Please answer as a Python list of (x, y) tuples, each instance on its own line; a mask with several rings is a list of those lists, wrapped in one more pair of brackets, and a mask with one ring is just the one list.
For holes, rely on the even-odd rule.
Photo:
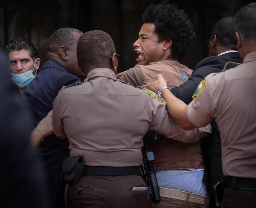
[[(256, 207), (256, 3), (235, 15), (237, 47), (242, 64), (201, 81), (187, 106), (175, 98), (162, 75), (149, 88), (162, 91), (168, 112), (183, 128), (216, 120), (222, 140), (225, 192), (222, 207)], [(230, 62), (229, 62), (230, 63)]]

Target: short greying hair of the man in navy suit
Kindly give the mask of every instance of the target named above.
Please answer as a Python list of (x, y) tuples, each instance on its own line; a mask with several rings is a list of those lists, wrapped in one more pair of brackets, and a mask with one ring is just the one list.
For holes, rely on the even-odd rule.
[(74, 32), (81, 32), (75, 28), (63, 27), (56, 30), (51, 36), (47, 44), (47, 50), (53, 51), (54, 46), (61, 46), (67, 43), (77, 42), (77, 36), (74, 35)]

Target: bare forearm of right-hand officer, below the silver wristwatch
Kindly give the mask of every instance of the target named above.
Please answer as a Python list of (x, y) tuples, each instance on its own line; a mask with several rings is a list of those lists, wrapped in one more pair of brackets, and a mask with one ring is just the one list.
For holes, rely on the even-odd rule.
[(187, 105), (183, 101), (176, 98), (167, 88), (162, 91), (162, 97), (166, 101), (168, 113), (181, 128), (185, 130), (197, 128), (188, 119)]

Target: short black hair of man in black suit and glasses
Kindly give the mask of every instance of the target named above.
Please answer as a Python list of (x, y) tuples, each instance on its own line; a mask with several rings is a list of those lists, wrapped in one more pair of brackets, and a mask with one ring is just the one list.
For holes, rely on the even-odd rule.
[(222, 47), (237, 50), (234, 17), (224, 17), (214, 26), (211, 35), (216, 35)]

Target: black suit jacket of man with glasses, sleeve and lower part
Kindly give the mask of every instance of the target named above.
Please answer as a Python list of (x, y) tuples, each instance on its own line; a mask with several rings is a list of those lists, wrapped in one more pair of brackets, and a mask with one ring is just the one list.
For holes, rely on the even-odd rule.
[[(174, 87), (171, 92), (180, 100), (189, 104), (192, 95), (199, 83), (209, 74), (221, 72), (227, 62), (242, 63), (238, 52), (229, 52), (220, 56), (209, 56), (201, 60), (194, 68), (191, 77), (179, 87)], [(227, 69), (233, 68), (231, 64)], [(203, 181), (209, 194), (213, 194), (213, 185), (223, 180), (221, 162), (221, 137), (215, 120), (211, 122), (212, 133), (202, 139), (202, 153), (204, 156), (205, 172)]]

